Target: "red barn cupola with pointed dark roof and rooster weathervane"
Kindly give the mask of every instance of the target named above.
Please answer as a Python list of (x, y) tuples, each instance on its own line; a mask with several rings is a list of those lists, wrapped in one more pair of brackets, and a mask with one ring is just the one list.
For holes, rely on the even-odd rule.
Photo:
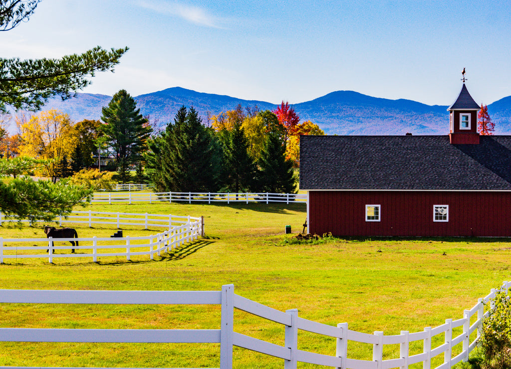
[(447, 110), (449, 114), (449, 137), (453, 144), (478, 144), (477, 112), (481, 107), (472, 99), (465, 86), (465, 69), (462, 72), (463, 86), (458, 98)]

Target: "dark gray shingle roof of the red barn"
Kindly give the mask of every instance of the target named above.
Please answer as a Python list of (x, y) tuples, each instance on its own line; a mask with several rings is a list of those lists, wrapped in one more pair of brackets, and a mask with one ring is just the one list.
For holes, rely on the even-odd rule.
[(511, 136), (301, 136), (300, 189), (511, 190)]

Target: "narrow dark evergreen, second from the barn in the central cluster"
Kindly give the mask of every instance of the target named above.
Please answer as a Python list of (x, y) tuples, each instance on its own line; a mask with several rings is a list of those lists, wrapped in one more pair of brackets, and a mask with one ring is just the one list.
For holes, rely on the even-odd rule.
[(232, 129), (218, 133), (223, 151), (224, 189), (236, 193), (250, 191), (255, 184), (255, 163), (241, 124), (236, 122)]

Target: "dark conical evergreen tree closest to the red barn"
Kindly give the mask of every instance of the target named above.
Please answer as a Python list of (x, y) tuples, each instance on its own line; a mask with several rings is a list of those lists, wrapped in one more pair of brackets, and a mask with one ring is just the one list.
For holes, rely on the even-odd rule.
[(258, 191), (295, 193), (293, 161), (286, 159), (286, 146), (277, 133), (268, 133), (259, 160)]

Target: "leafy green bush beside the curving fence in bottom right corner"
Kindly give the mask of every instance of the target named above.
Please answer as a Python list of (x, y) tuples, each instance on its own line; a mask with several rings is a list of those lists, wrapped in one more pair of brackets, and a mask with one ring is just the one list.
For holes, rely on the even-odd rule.
[(511, 368), (511, 300), (500, 289), (493, 299), (495, 307), (483, 320), (481, 332), (482, 369)]

